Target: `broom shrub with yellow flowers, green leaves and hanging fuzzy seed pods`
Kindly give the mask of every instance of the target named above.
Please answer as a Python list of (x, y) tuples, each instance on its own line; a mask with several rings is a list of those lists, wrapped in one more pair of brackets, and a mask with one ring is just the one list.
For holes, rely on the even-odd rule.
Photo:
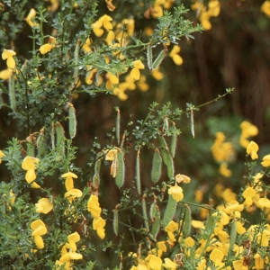
[[(10, 175), (0, 187), (1, 267), (266, 269), (270, 266), (266, 222), (270, 154), (259, 157), (259, 146), (248, 140), (258, 130), (249, 122), (242, 122), (239, 138), (247, 149), (246, 184), (239, 195), (216, 185), (220, 204), (184, 201), (184, 185), (193, 180), (175, 171), (176, 140), (181, 133), (175, 122), (187, 115), (194, 137), (193, 112), (204, 104), (187, 103), (181, 111), (171, 103), (161, 107), (152, 103), (145, 119), (134, 128), (130, 122), (123, 132), (121, 112), (115, 107), (110, 143), (94, 142), (87, 168), (74, 164), (79, 151), (77, 125), (82, 124), (76, 99), (81, 94), (106, 93), (124, 101), (127, 91), (148, 91), (149, 77), (157, 81), (164, 77), (159, 68), (166, 56), (172, 65), (182, 65), (179, 40), (193, 38), (202, 26), (210, 29), (210, 18), (220, 13), (219, 1), (211, 0), (208, 7), (196, 2), (192, 9), (200, 11), (202, 26), (194, 26), (185, 19), (184, 6), (172, 0), (135, 1), (134, 7), (130, 7), (134, 1), (127, 1), (122, 6), (127, 13), (116, 14), (120, 2), (98, 2), (50, 1), (29, 11), (26, 1), (0, 4), (5, 61), (1, 91), (9, 97), (8, 103), (1, 100), (1, 106), (16, 121), (16, 136), (0, 150), (0, 164)], [(105, 14), (100, 14), (97, 8), (104, 11), (103, 5)], [(264, 4), (264, 13), (266, 9)], [(152, 20), (153, 27), (142, 28), (139, 36), (136, 19), (141, 14)], [(17, 25), (11, 29), (14, 15)], [(24, 27), (31, 32), (27, 38), (31, 49), (25, 54), (14, 42)], [(227, 89), (213, 101), (231, 93)], [(129, 186), (125, 180), (132, 150), (136, 165)], [(141, 177), (142, 151), (153, 156), (150, 184)], [(216, 134), (211, 153), (220, 164), (220, 175), (229, 177), (235, 150), (222, 132)], [(109, 163), (120, 195), (118, 204), (107, 210), (103, 203), (109, 192), (103, 171)], [(198, 193), (196, 201), (201, 202)], [(193, 207), (202, 209), (204, 221), (193, 218)], [(251, 213), (260, 215), (256, 224), (248, 219)], [(126, 243), (126, 228), (131, 246)]]

